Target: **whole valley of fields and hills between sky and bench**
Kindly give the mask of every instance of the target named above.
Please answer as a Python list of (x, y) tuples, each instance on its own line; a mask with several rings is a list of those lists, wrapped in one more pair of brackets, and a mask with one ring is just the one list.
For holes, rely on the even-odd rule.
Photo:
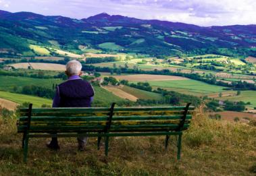
[[(217, 103), (207, 107), (211, 111), (240, 101), (242, 111), (256, 108), (253, 25), (238, 30), (150, 20), (134, 23), (105, 13), (79, 23), (65, 18), (63, 25), (61, 18), (34, 13), (21, 13), (20, 20), (14, 16), (6, 13), (0, 18), (0, 98), (5, 104), (10, 100), (51, 106), (55, 86), (66, 80), (65, 64), (78, 59), (84, 67), (82, 78), (93, 81), (96, 107), (111, 102), (182, 104), (184, 99)], [(11, 28), (12, 22), (19, 27)]]

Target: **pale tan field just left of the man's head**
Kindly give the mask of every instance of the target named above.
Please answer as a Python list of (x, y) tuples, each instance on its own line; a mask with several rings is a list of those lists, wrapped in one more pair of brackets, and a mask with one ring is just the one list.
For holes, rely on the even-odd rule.
[(28, 69), (28, 67), (32, 67), (32, 69), (42, 69), (42, 70), (58, 70), (58, 71), (65, 71), (66, 66), (57, 64), (57, 63), (14, 63), (11, 66), (15, 67), (16, 69)]

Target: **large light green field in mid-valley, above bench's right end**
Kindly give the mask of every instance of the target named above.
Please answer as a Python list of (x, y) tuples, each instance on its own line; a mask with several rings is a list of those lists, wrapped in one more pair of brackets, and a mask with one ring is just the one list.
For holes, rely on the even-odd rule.
[(176, 88), (177, 92), (182, 88), (193, 92), (211, 93), (221, 92), (224, 88), (222, 86), (206, 84), (197, 80), (149, 81), (149, 84), (160, 88)]

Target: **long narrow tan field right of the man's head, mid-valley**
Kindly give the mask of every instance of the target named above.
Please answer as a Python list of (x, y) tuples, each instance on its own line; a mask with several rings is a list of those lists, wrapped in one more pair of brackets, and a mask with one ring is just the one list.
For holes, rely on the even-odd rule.
[(118, 80), (128, 80), (130, 82), (148, 82), (148, 81), (170, 81), (170, 80), (189, 80), (181, 76), (163, 76), (163, 75), (125, 75), (125, 76), (113, 76)]

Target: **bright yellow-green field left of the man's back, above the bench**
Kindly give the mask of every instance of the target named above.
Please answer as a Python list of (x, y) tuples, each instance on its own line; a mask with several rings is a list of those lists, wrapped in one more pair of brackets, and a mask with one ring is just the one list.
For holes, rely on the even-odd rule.
[(41, 107), (44, 104), (51, 105), (53, 102), (53, 100), (50, 100), (47, 98), (41, 98), (38, 96), (15, 94), (11, 92), (3, 92), (3, 91), (0, 91), (0, 98), (11, 100), (13, 102), (17, 102), (18, 104), (22, 104), (23, 102), (30, 102), (34, 105), (34, 107)]

